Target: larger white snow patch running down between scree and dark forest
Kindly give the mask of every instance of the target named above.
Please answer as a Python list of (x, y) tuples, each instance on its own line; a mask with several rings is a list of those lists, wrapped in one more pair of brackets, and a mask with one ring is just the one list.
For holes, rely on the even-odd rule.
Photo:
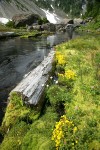
[(44, 9), (42, 9), (42, 10), (45, 12), (46, 17), (50, 23), (57, 24), (60, 22), (61, 19), (55, 13), (51, 13), (48, 10), (44, 10)]

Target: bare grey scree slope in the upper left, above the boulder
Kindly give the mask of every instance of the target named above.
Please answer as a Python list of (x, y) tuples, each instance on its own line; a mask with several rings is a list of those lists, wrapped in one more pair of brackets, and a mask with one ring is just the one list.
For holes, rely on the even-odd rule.
[(39, 16), (46, 16), (31, 0), (0, 0), (0, 17), (12, 19), (15, 14), (21, 13), (35, 13)]

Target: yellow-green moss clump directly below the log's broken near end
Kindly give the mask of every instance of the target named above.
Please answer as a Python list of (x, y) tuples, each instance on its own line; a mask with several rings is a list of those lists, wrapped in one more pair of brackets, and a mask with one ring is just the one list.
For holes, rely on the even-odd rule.
[(2, 123), (2, 130), (5, 133), (8, 128), (14, 126), (19, 120), (24, 120), (27, 123), (37, 119), (39, 113), (34, 109), (27, 107), (23, 101), (22, 96), (13, 92), (10, 96), (10, 102), (7, 106), (5, 117)]

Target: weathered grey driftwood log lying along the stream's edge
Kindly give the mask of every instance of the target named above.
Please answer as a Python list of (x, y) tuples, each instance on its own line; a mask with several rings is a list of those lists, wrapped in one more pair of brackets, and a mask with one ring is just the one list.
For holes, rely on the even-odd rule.
[(28, 104), (38, 104), (44, 91), (46, 82), (49, 78), (49, 72), (52, 69), (54, 54), (55, 52), (52, 49), (48, 56), (41, 62), (41, 64), (29, 72), (11, 91), (11, 93), (20, 93), (22, 95), (22, 99)]

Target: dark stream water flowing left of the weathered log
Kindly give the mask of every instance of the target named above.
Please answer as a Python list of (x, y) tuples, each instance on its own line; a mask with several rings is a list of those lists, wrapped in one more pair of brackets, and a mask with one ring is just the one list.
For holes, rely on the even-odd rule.
[(0, 124), (9, 92), (49, 53), (52, 46), (78, 36), (75, 32), (32, 39), (0, 41)]

